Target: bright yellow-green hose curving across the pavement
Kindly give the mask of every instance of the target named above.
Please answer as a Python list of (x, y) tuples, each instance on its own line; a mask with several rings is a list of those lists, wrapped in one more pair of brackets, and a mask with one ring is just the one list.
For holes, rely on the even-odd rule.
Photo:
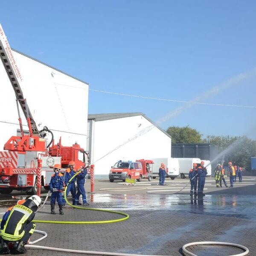
[[(69, 185), (70, 181), (73, 180), (73, 178), (76, 177), (76, 175), (79, 175), (80, 172), (77, 172), (73, 177), (71, 177), (71, 179), (67, 183), (67, 186)], [(67, 197), (66, 197), (67, 186), (66, 186), (65, 191), (64, 191), (64, 198), (65, 198), (65, 201), (67, 202), (67, 204), (69, 204), (71, 207), (76, 208), (76, 209), (83, 209), (83, 210), (116, 213), (116, 214), (119, 214), (119, 215), (124, 215), (125, 218), (119, 218), (119, 219), (110, 220), (110, 221), (47, 221), (47, 220), (46, 221), (42, 221), (42, 220), (33, 220), (33, 222), (37, 222), (37, 223), (55, 223), (55, 224), (102, 224), (102, 223), (113, 223), (113, 222), (118, 222), (118, 221), (125, 221), (125, 220), (127, 220), (130, 217), (125, 212), (117, 212), (117, 211), (104, 210), (104, 209), (96, 209), (96, 208), (95, 209), (93, 209), (93, 208), (85, 208), (85, 207), (79, 207), (79, 206), (72, 205), (72, 204), (70, 204), (69, 201), (67, 201)]]

